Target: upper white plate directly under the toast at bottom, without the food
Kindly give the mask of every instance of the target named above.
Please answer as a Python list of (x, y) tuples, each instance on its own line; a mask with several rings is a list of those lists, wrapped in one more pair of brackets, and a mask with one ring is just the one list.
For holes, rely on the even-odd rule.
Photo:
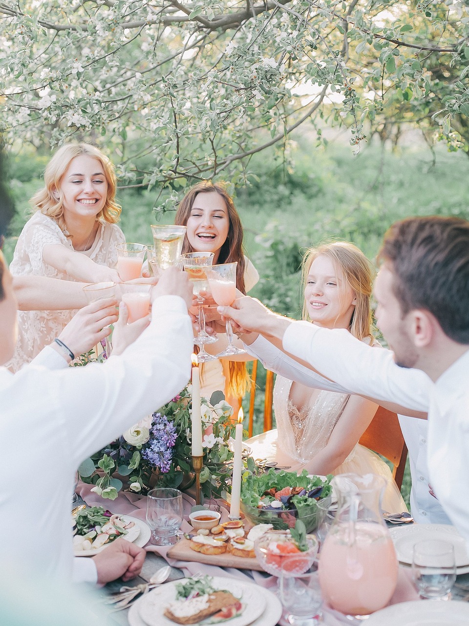
[[(174, 622), (164, 617), (164, 609), (169, 602), (176, 599), (176, 585), (188, 580), (173, 580), (157, 587), (139, 601), (139, 615), (148, 626), (174, 626)], [(229, 620), (229, 626), (248, 626), (251, 622), (262, 615), (266, 601), (259, 597), (258, 587), (254, 583), (241, 582), (233, 578), (214, 576), (212, 585), (216, 589), (227, 589), (236, 597), (241, 597), (241, 602), (246, 605), (239, 617)]]

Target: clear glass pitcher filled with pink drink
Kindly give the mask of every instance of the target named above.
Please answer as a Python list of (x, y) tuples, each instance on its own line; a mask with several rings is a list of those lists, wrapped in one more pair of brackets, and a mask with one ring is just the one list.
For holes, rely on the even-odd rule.
[(331, 485), (338, 511), (321, 550), (321, 592), (332, 608), (362, 618), (385, 607), (397, 583), (398, 560), (381, 516), (386, 481), (341, 474)]

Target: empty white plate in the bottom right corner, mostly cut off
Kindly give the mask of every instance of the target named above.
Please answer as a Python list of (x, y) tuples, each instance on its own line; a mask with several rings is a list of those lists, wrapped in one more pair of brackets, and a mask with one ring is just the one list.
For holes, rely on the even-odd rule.
[(467, 602), (437, 602), (415, 600), (401, 602), (376, 611), (366, 620), (366, 626), (467, 626)]

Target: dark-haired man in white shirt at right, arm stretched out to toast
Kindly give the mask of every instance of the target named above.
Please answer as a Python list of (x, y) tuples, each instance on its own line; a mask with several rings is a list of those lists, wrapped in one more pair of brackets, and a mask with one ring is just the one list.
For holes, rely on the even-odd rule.
[[(378, 258), (376, 320), (394, 354), (345, 330), (292, 322), (248, 297), (236, 301), (239, 310), (218, 310), (240, 329), (281, 340), (286, 352), (353, 393), (428, 409), (431, 485), (469, 545), (469, 222), (397, 222)], [(419, 370), (432, 381), (426, 393)]]

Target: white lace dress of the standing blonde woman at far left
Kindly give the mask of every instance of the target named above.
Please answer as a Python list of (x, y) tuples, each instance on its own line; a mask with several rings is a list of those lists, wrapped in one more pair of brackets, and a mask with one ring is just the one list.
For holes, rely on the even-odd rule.
[[(118, 226), (101, 223), (91, 248), (78, 254), (86, 255), (99, 265), (116, 269), (116, 244), (124, 242), (124, 233)], [(38, 211), (26, 222), (19, 235), (10, 265), (11, 274), (74, 280), (68, 274), (44, 263), (43, 249), (48, 244), (62, 244), (73, 250), (71, 241), (66, 238), (55, 220)], [(16, 372), (31, 361), (44, 346), (54, 341), (75, 313), (76, 309), (19, 311), (18, 342), (13, 359), (8, 364), (9, 369)]]

